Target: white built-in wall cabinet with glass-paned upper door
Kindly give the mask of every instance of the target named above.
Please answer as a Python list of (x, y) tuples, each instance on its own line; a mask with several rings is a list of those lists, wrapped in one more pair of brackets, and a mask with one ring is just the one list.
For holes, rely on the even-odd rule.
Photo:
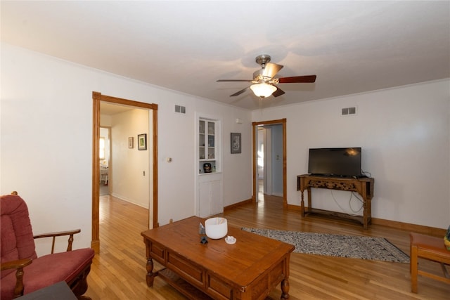
[(201, 218), (224, 211), (220, 129), (218, 119), (198, 118), (196, 211)]

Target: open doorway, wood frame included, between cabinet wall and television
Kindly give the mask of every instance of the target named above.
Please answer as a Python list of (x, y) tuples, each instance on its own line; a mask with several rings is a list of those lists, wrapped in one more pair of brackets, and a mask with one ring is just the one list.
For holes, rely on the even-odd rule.
[(286, 119), (253, 122), (253, 201), (286, 196)]

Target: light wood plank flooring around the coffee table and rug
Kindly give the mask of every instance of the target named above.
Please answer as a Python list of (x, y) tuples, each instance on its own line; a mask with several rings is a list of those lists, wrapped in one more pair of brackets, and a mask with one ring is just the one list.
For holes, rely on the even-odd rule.
[[(94, 258), (87, 296), (97, 299), (186, 299), (160, 278), (146, 285), (145, 247), (148, 210), (115, 197), (101, 197), (100, 254)], [(361, 225), (317, 216), (302, 218), (283, 209), (281, 198), (265, 197), (223, 214), (229, 226), (299, 230), (315, 233), (386, 237), (409, 254), (409, 232), (380, 225)], [(420, 261), (421, 268), (440, 273), (439, 265)], [(160, 266), (155, 266), (157, 269)], [(410, 292), (409, 264), (365, 261), (293, 253), (290, 259), (290, 299), (450, 299), (450, 285), (419, 278), (418, 294)], [(280, 287), (269, 295), (279, 299)]]

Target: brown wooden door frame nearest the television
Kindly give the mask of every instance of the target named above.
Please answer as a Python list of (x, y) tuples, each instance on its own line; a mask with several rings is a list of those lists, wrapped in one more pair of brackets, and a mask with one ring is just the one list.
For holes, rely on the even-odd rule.
[(259, 125), (283, 125), (283, 207), (288, 207), (288, 196), (286, 193), (287, 188), (287, 165), (286, 165), (286, 119), (276, 119), (271, 121), (252, 122), (252, 147), (253, 147), (253, 190), (252, 190), (252, 202), (256, 203), (257, 193), (257, 176), (258, 176), (258, 148), (257, 148), (257, 126)]

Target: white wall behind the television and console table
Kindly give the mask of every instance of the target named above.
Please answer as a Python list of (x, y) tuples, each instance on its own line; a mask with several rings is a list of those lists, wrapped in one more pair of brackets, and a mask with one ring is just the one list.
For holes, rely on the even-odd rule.
[[(326, 99), (252, 113), (254, 121), (287, 118), (288, 204), (300, 205), (297, 175), (308, 149), (362, 147), (362, 168), (375, 178), (372, 216), (447, 228), (450, 224), (450, 81)], [(342, 107), (357, 115), (341, 116)], [(313, 190), (313, 207), (360, 207), (350, 193)], [(305, 195), (306, 197), (306, 195)], [(333, 200), (333, 197), (335, 200)]]

